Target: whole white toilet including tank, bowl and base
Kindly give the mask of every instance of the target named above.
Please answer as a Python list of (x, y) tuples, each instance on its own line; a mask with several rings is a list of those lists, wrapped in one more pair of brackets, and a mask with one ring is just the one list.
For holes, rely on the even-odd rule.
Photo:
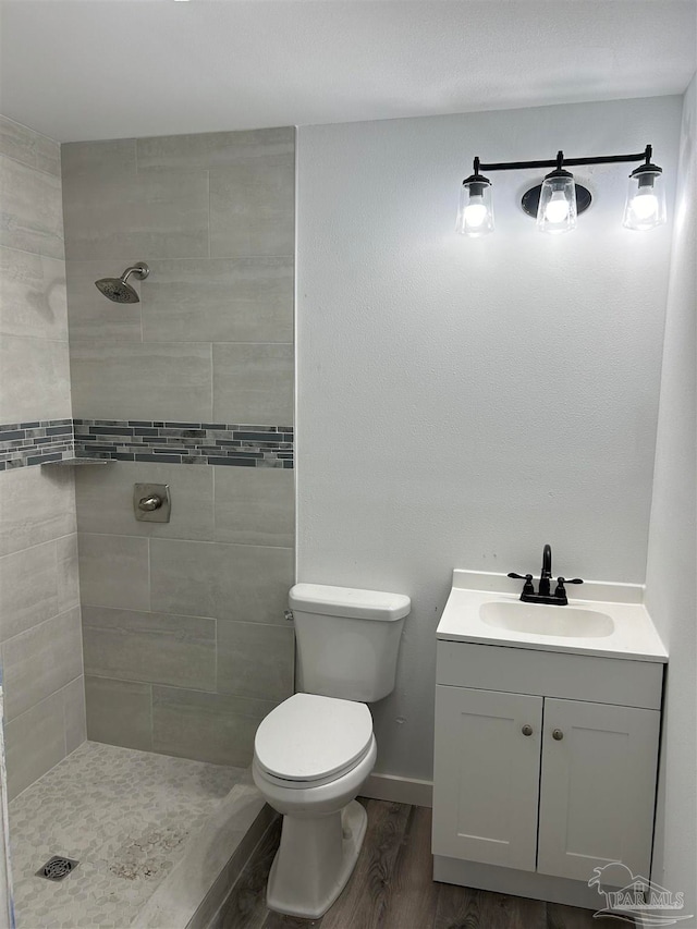
[(394, 689), (408, 597), (296, 584), (298, 687), (261, 722), (252, 772), (283, 814), (267, 888), (269, 909), (315, 919), (351, 877), (366, 811), (356, 802), (377, 755), (366, 702)]

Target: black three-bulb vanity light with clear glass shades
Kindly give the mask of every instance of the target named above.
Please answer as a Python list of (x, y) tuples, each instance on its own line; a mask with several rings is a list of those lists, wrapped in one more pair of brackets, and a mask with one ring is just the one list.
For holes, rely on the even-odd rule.
[(523, 194), (521, 206), (537, 220), (540, 232), (570, 232), (576, 228), (576, 217), (590, 206), (592, 196), (587, 187), (576, 183), (571, 171), (575, 164), (610, 164), (617, 161), (641, 161), (629, 174), (629, 190), (624, 210), (623, 225), (639, 231), (653, 229), (665, 222), (665, 194), (662, 170), (651, 163), (650, 145), (638, 155), (608, 155), (596, 158), (564, 158), (558, 151), (553, 161), (501, 161), (482, 164), (474, 160), (474, 173), (462, 182), (456, 231), (472, 239), (493, 232), (493, 203), (491, 181), (480, 171), (516, 171), (526, 168), (553, 168), (541, 184)]

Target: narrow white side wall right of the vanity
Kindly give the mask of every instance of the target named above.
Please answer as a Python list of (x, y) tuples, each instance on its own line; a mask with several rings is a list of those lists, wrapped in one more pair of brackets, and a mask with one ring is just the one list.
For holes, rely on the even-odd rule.
[(647, 604), (670, 653), (653, 878), (697, 926), (697, 78), (685, 95), (649, 531)]

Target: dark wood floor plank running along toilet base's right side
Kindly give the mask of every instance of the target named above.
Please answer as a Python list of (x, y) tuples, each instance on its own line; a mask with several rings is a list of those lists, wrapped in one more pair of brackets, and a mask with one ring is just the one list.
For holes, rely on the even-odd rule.
[(366, 800), (365, 806), (368, 829), (360, 855), (344, 892), (325, 915), (322, 929), (378, 929), (383, 925), (411, 807), (381, 800)]

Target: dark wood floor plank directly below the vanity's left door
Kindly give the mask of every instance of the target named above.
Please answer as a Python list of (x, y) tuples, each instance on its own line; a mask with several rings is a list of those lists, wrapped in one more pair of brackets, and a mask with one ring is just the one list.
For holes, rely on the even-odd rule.
[(439, 884), (433, 929), (546, 929), (541, 901)]

